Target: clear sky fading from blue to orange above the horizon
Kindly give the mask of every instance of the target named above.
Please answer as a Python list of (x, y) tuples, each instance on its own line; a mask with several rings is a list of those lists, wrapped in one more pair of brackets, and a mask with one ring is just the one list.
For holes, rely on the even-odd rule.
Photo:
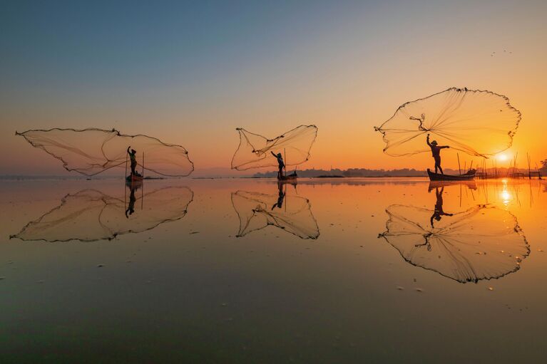
[(450, 87), (507, 95), (523, 115), (507, 154), (547, 159), (546, 1), (0, 6), (0, 175), (64, 172), (16, 130), (151, 135), (183, 145), (206, 175), (230, 167), (235, 128), (275, 137), (302, 124), (319, 133), (301, 168), (423, 170), (430, 155), (389, 157), (373, 127)]

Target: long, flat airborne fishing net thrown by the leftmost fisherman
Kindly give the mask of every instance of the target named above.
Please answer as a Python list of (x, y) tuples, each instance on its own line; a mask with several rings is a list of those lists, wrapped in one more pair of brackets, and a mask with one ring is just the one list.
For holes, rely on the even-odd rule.
[(112, 167), (124, 167), (130, 145), (137, 151), (140, 168), (144, 158), (145, 170), (149, 172), (183, 177), (194, 170), (184, 147), (146, 135), (123, 135), (114, 129), (28, 130), (16, 134), (61, 160), (66, 170), (83, 175), (92, 176)]

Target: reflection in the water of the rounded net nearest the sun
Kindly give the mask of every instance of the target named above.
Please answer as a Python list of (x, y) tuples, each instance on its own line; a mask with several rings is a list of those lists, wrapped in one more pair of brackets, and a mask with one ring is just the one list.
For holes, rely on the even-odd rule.
[(383, 236), (410, 264), (465, 283), (517, 271), (530, 253), (516, 217), (488, 205), (430, 224), (434, 211), (392, 205)]

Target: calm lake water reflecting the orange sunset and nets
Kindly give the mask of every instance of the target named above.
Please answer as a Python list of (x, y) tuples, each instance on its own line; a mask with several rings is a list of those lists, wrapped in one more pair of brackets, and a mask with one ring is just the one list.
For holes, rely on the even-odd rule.
[(0, 363), (546, 357), (546, 181), (4, 181), (0, 204)]

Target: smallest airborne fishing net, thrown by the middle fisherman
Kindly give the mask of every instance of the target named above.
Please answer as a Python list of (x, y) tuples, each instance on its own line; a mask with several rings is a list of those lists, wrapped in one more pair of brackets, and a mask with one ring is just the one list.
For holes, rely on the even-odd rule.
[(242, 128), (237, 131), (240, 133), (240, 145), (232, 157), (232, 169), (235, 170), (277, 167), (277, 160), (271, 152), (282, 155), (286, 152), (287, 166), (300, 165), (310, 159), (310, 150), (317, 137), (315, 125), (300, 125), (274, 139), (267, 139)]

